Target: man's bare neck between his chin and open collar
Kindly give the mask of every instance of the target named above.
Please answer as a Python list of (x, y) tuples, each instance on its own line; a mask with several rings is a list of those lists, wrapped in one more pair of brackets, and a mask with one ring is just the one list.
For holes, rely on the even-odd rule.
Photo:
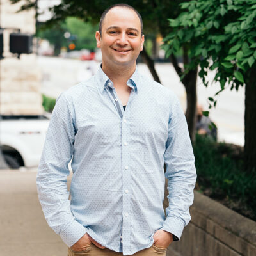
[(114, 67), (114, 66), (104, 65), (104, 62), (103, 62), (102, 70), (114, 84), (126, 85), (128, 79), (132, 76), (132, 74), (136, 70), (136, 63), (134, 63), (132, 67), (127, 67), (127, 66)]

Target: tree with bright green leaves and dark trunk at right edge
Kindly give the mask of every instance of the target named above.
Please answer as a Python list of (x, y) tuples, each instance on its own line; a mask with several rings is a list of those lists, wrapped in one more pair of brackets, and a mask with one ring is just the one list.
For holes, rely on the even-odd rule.
[[(198, 0), (181, 4), (184, 12), (169, 19), (171, 31), (165, 41), (167, 54), (190, 45), (191, 60), (185, 72), (200, 66), (205, 86), (209, 70), (220, 86), (216, 95), (230, 88), (245, 86), (246, 170), (256, 169), (256, 2), (255, 0)], [(209, 108), (216, 106), (216, 95), (209, 97)]]

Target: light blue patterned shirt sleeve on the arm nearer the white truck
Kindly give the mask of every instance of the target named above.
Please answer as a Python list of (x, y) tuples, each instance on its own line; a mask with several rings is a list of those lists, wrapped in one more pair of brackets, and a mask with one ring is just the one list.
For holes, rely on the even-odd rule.
[(67, 189), (68, 163), (74, 151), (75, 132), (68, 101), (62, 94), (52, 112), (36, 186), (47, 223), (69, 247), (87, 231), (71, 212)]

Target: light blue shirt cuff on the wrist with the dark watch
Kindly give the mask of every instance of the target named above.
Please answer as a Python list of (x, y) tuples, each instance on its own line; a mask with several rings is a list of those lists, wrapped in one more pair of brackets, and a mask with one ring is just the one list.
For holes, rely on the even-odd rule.
[(175, 237), (177, 237), (177, 239), (175, 239), (175, 241), (177, 241), (180, 239), (184, 227), (184, 221), (178, 220), (175, 217), (167, 217), (161, 230), (172, 233)]

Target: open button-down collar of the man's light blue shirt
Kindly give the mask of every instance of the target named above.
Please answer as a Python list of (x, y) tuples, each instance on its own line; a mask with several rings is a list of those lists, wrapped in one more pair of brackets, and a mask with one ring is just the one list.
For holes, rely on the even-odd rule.
[[(106, 88), (106, 86), (111, 86), (113, 87), (113, 83), (112, 81), (109, 79), (109, 77), (104, 73), (104, 71), (102, 70), (102, 64), (100, 65), (98, 72), (96, 73), (96, 79), (98, 81), (98, 84), (100, 86), (100, 92), (103, 93), (104, 89)], [(109, 85), (108, 83), (111, 82)], [(127, 81), (127, 85), (134, 88), (135, 91), (138, 92), (138, 84), (140, 83), (140, 76), (138, 73), (138, 67), (136, 65), (136, 70), (134, 71), (134, 73), (132, 74), (132, 76), (130, 77), (130, 79)]]

